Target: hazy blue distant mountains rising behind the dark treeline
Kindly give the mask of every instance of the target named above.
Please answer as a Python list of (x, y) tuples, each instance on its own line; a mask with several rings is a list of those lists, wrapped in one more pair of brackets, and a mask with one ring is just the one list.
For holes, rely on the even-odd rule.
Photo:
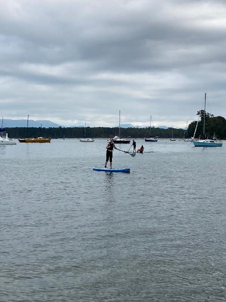
[[(27, 127), (27, 120), (23, 119), (23, 120), (13, 120), (13, 119), (4, 119), (3, 120), (3, 126), (6, 128), (13, 128), (13, 127)], [(28, 126), (29, 127), (40, 127), (42, 124), (43, 128), (58, 128), (58, 127), (67, 127), (67, 128), (72, 128), (72, 127), (84, 127), (81, 125), (74, 125), (74, 126), (63, 126), (63, 125), (59, 125), (56, 123), (53, 123), (51, 121), (48, 120), (29, 120)], [(1, 124), (0, 124), (1, 125)], [(138, 125), (133, 125), (133, 124), (122, 124), (121, 125), (122, 128), (149, 128), (149, 125), (147, 126), (138, 126)], [(158, 128), (162, 128), (162, 129), (168, 129), (167, 126), (158, 126)]]

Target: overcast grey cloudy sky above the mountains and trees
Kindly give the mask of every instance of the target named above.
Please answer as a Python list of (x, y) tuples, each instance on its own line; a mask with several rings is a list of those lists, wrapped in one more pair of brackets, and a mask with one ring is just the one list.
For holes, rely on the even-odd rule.
[(226, 3), (0, 0), (0, 111), (62, 125), (226, 117)]

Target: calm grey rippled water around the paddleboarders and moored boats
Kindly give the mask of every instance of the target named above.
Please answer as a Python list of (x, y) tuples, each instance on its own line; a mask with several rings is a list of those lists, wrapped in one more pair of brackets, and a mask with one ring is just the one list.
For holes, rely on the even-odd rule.
[(226, 141), (106, 142), (0, 145), (0, 301), (223, 301)]

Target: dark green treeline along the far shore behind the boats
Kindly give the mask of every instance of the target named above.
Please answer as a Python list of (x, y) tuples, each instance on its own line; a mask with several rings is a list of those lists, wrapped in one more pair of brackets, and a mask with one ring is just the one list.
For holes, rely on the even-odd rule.
[[(204, 111), (198, 112), (201, 120), (198, 123), (195, 137), (203, 138), (203, 123)], [(195, 131), (197, 121), (193, 121), (188, 125), (188, 133), (184, 129), (173, 128), (173, 137), (182, 138), (192, 137)], [(25, 138), (25, 137), (52, 137), (52, 138), (81, 138), (84, 137), (84, 127), (58, 127), (58, 128), (35, 128), (35, 127), (13, 127), (7, 128), (9, 137)], [(144, 138), (149, 137), (150, 129), (146, 128), (121, 128), (121, 137)], [(213, 116), (212, 114), (205, 114), (205, 134), (206, 137), (211, 138), (213, 135), (219, 139), (226, 139), (226, 120), (222, 116)], [(86, 127), (86, 137), (107, 138), (119, 135), (119, 127)], [(168, 129), (151, 128), (151, 136), (158, 136), (159, 138), (171, 138), (172, 127)]]

